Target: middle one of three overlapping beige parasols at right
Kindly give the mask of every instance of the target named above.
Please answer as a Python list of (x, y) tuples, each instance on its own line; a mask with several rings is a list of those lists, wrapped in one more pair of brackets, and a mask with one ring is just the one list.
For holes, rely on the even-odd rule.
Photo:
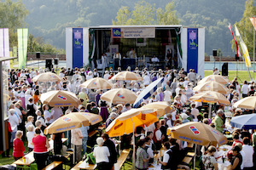
[(193, 88), (194, 91), (203, 92), (203, 91), (215, 91), (220, 94), (227, 94), (230, 92), (230, 89), (225, 87), (223, 84), (220, 84), (218, 82), (210, 81), (210, 82), (204, 82), (201, 83), (195, 88)]

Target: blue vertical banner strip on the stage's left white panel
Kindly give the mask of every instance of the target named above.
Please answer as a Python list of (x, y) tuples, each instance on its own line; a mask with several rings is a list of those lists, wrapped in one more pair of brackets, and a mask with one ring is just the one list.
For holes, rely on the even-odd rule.
[(83, 28), (73, 28), (73, 68), (83, 67)]

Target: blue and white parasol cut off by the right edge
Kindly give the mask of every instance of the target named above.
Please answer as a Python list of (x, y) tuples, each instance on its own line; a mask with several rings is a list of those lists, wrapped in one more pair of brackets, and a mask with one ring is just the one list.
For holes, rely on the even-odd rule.
[(230, 125), (240, 129), (256, 129), (256, 114), (234, 116), (230, 120)]

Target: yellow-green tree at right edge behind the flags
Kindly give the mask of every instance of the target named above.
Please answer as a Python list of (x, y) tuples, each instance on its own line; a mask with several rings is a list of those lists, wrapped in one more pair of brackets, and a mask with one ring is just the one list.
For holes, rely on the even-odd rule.
[[(256, 15), (256, 6), (253, 5), (253, 0), (247, 0), (245, 3), (245, 10), (242, 18), (239, 22), (236, 22), (236, 26), (241, 34), (242, 40), (247, 45), (249, 53), (253, 53), (253, 24), (250, 17)], [(234, 40), (231, 41), (232, 48), (235, 51), (236, 45)]]

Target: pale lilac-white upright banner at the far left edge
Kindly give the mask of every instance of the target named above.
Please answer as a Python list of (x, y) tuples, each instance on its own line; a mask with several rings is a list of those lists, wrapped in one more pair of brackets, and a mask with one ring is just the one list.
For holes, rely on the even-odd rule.
[[(0, 28), (0, 57), (9, 57), (9, 28)], [(10, 68), (9, 60), (3, 65)]]

